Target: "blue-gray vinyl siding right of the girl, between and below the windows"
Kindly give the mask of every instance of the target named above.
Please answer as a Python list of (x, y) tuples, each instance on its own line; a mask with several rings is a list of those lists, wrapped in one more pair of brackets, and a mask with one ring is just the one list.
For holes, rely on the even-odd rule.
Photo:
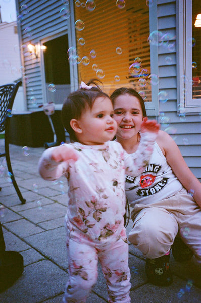
[[(176, 37), (176, 1), (158, 0), (158, 30)], [(173, 40), (178, 42), (178, 40)], [(188, 114), (184, 121), (177, 115), (177, 69), (176, 48), (168, 53), (165, 48), (158, 49), (159, 91), (168, 92), (169, 99), (159, 104), (159, 111), (170, 119), (170, 127), (176, 130), (171, 136), (177, 143), (184, 159), (195, 176), (201, 179), (201, 116)], [(167, 65), (165, 57), (171, 56), (172, 64)], [(179, 102), (178, 102), (179, 103)], [(164, 130), (166, 127), (161, 124)]]

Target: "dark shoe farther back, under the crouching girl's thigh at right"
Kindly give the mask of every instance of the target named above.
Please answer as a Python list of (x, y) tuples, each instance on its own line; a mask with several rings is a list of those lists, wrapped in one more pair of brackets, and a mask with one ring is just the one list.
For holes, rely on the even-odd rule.
[(175, 238), (171, 248), (174, 259), (181, 263), (189, 261), (194, 255), (192, 250), (190, 250), (180, 237)]

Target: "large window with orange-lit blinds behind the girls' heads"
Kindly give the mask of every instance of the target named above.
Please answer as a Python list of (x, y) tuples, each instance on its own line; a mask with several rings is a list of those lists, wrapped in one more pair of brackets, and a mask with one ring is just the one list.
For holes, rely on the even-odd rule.
[(77, 0), (74, 12), (79, 83), (97, 78), (109, 95), (133, 87), (151, 101), (146, 1)]

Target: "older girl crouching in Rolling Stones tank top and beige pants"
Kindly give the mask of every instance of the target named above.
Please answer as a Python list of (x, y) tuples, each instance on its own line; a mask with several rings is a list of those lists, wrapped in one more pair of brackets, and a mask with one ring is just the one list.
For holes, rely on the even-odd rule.
[[(111, 95), (116, 140), (129, 154), (141, 141), (141, 121), (146, 117), (144, 102), (132, 88), (120, 88)], [(129, 241), (146, 256), (146, 274), (150, 282), (169, 285), (170, 249), (177, 234), (201, 263), (201, 183), (186, 165), (174, 140), (159, 131), (154, 151), (145, 170), (126, 175), (126, 196), (134, 222)], [(191, 194), (189, 194), (189, 193)], [(179, 242), (176, 238), (175, 245)], [(180, 256), (182, 242), (173, 246)], [(183, 245), (192, 257), (191, 251)], [(187, 255), (188, 256), (188, 255)]]

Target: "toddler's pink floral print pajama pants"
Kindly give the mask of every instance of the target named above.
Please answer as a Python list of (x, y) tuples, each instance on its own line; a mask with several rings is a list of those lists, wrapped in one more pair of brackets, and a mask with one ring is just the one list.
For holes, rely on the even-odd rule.
[(106, 279), (108, 301), (130, 303), (130, 270), (128, 244), (121, 238), (107, 245), (84, 240), (67, 240), (69, 279), (64, 303), (84, 303), (97, 280), (98, 260)]

